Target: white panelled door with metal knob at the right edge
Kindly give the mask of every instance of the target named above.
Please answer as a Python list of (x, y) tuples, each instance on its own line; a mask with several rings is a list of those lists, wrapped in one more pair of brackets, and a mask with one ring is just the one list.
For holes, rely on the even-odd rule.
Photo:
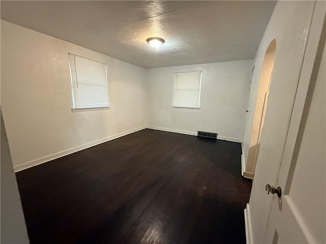
[(270, 196), (265, 243), (326, 243), (325, 13), (317, 2), (275, 186), (283, 193)]

